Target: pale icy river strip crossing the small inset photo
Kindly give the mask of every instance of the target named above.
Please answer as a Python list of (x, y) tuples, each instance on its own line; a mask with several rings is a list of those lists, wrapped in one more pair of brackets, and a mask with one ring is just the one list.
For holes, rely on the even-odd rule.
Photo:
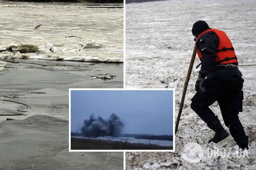
[(80, 139), (97, 139), (97, 140), (111, 140), (111, 141), (122, 141), (122, 142), (128, 142), (132, 144), (153, 144), (158, 146), (173, 146), (172, 141), (168, 140), (147, 140), (147, 139), (135, 139), (135, 138), (122, 138), (122, 137), (97, 137), (97, 138), (87, 138), (84, 136), (72, 136), (72, 138), (80, 138)]

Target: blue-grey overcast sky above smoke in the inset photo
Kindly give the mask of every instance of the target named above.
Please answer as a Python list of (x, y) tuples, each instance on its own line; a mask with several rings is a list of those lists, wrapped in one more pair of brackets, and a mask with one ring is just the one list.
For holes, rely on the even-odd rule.
[(173, 91), (167, 90), (73, 90), (71, 132), (89, 119), (108, 119), (116, 113), (124, 123), (123, 133), (173, 134)]

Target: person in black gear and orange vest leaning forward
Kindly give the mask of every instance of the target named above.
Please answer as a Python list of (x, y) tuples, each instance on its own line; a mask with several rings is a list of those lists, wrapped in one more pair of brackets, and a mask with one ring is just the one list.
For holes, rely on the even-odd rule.
[(225, 67), (228, 64), (238, 65), (232, 43), (225, 32), (209, 28), (208, 24), (201, 20), (194, 23), (192, 34), (202, 65), (195, 85), (197, 93), (191, 99), (191, 108), (215, 131), (215, 136), (209, 143), (218, 143), (229, 134), (222, 127), (217, 115), (209, 108), (217, 101), (231, 136), (239, 148), (248, 149), (248, 136), (238, 117), (244, 99), (244, 79), (238, 67)]

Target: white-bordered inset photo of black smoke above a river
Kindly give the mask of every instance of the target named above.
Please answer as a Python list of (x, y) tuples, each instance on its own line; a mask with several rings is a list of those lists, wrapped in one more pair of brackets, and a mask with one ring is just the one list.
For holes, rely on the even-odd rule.
[(69, 89), (69, 151), (174, 151), (174, 89)]

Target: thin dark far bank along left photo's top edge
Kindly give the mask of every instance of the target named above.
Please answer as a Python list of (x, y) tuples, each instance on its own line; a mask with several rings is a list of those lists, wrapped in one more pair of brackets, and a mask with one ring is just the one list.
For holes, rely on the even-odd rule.
[(16, 2), (94, 2), (94, 3), (124, 3), (124, 0), (6, 0)]

